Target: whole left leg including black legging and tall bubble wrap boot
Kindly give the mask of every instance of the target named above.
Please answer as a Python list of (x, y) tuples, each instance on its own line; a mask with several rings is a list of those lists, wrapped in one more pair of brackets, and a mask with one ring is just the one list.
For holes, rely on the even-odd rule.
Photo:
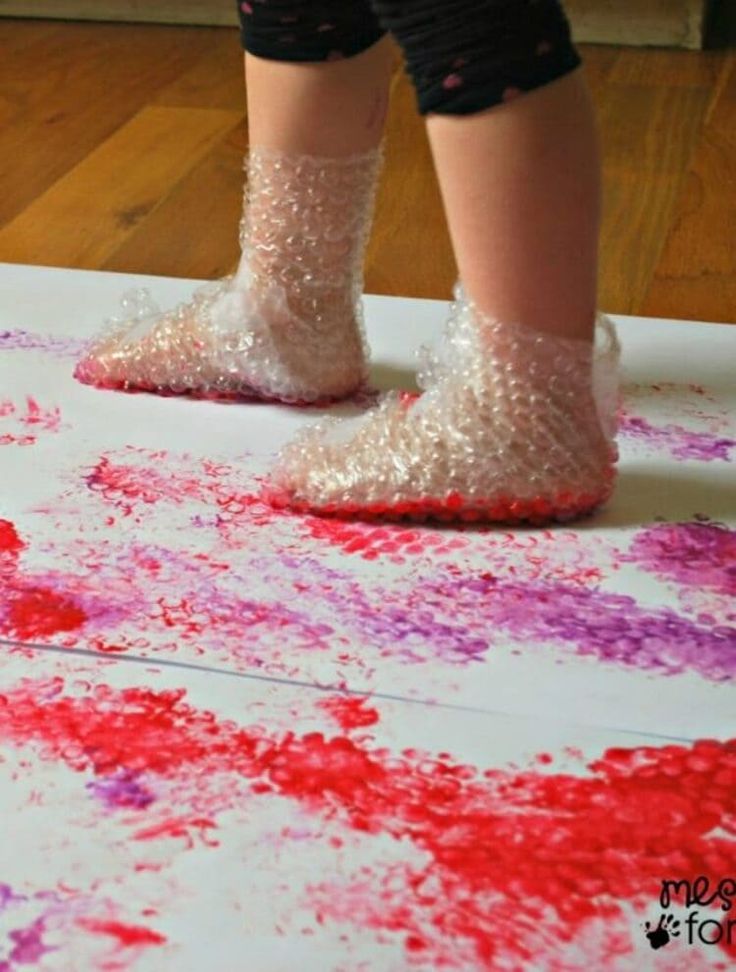
[(83, 381), (298, 402), (341, 397), (364, 380), (362, 260), (390, 45), (367, 4), (247, 6), (238, 270), (169, 313), (134, 301), (80, 362)]

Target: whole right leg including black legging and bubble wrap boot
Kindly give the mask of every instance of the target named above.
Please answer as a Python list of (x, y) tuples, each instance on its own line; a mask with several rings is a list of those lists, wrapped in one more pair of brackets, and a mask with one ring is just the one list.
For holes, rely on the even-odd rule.
[(271, 496), (443, 518), (586, 512), (613, 481), (617, 342), (602, 318), (590, 340), (599, 165), (567, 22), (555, 0), (374, 7), (429, 115), (465, 294), (421, 398), (308, 432)]

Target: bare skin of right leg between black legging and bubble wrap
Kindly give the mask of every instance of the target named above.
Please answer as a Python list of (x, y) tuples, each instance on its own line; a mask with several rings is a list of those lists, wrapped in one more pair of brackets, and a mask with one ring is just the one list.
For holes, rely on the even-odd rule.
[(499, 320), (592, 335), (600, 163), (580, 71), (427, 130), (468, 296)]

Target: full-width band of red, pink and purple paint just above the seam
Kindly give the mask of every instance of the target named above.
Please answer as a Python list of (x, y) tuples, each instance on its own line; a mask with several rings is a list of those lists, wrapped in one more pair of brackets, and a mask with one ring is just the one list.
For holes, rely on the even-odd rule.
[[(236, 514), (241, 544), (258, 530), (248, 525), (249, 509)], [(291, 535), (294, 550), (300, 530)], [(478, 542), (492, 555), (486, 539)], [(590, 586), (590, 576), (583, 584), (533, 581), (522, 563), (519, 579), (507, 580), (514, 573), (503, 543), (498, 572), (452, 562), (428, 571), (418, 558), (412, 571), (370, 585), (289, 553), (288, 541), (268, 556), (252, 553), (238, 567), (191, 547), (76, 541), (58, 554), (80, 565), (74, 573), (19, 572), (6, 580), (0, 634), (36, 642), (58, 636), (67, 647), (103, 652), (181, 654), (188, 647), (196, 657), (216, 652), (235, 668), (290, 677), (311, 674), (313, 664), (323, 664), (319, 655), (330, 663), (335, 686), (358, 672), (372, 677), (382, 658), (468, 665), (492, 661), (494, 646), (559, 646), (568, 657), (668, 675), (694, 671), (711, 681), (736, 674), (735, 628), (644, 608)], [(547, 548), (529, 549), (543, 559)], [(351, 651), (356, 644), (360, 651)]]

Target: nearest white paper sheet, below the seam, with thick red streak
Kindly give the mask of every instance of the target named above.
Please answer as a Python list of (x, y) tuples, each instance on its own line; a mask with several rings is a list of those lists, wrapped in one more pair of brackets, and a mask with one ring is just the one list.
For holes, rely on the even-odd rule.
[(723, 743), (35, 649), (6, 652), (0, 679), (3, 969), (640, 972), (733, 954), (720, 880), (690, 928), (660, 900), (733, 861)]

